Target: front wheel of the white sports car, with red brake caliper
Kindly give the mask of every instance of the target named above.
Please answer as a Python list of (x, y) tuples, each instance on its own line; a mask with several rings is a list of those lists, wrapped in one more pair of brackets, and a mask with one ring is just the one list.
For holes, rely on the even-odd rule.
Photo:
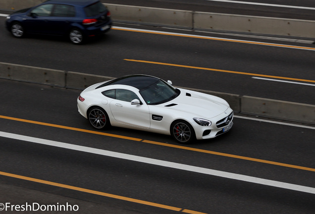
[(171, 124), (172, 137), (180, 144), (190, 144), (196, 140), (194, 128), (185, 120), (176, 120)]

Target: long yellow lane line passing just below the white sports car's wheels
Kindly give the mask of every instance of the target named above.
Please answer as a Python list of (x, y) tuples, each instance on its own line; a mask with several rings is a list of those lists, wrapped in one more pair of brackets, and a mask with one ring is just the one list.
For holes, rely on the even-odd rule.
[(16, 120), (16, 121), (21, 121), (21, 122), (27, 122), (27, 123), (33, 123), (33, 124), (39, 124), (39, 125), (45, 125), (45, 126), (51, 126), (51, 127), (57, 127), (57, 128), (62, 128), (62, 129), (74, 130), (74, 131), (87, 132), (87, 133), (98, 134), (98, 135), (105, 135), (105, 136), (109, 136), (109, 137), (116, 137), (116, 138), (122, 138), (122, 139), (127, 139), (127, 140), (141, 141), (143, 143), (150, 143), (150, 144), (155, 144), (155, 145), (159, 145), (159, 146), (171, 147), (171, 148), (176, 148), (176, 149), (183, 149), (183, 150), (206, 153), (206, 154), (211, 154), (211, 155), (224, 156), (224, 157), (241, 159), (241, 160), (250, 160), (250, 161), (255, 161), (255, 162), (268, 163), (268, 164), (272, 164), (272, 165), (285, 166), (285, 167), (289, 167), (289, 168), (296, 168), (296, 169), (302, 169), (302, 170), (307, 170), (307, 171), (315, 171), (315, 168), (297, 166), (297, 165), (280, 163), (280, 162), (269, 161), (269, 160), (248, 158), (248, 157), (244, 157), (244, 156), (230, 155), (230, 154), (226, 154), (226, 153), (213, 152), (213, 151), (209, 151), (209, 150), (195, 149), (195, 148), (190, 148), (190, 147), (185, 147), (185, 146), (179, 146), (179, 145), (166, 144), (166, 143), (161, 143), (161, 142), (156, 142), (156, 141), (143, 140), (143, 139), (139, 139), (139, 138), (131, 138), (131, 137), (125, 137), (125, 136), (121, 136), (121, 135), (108, 134), (108, 133), (104, 133), (104, 132), (90, 131), (90, 130), (86, 130), (86, 129), (79, 129), (79, 128), (73, 128), (73, 127), (68, 127), (68, 126), (55, 125), (55, 124), (51, 124), (51, 123), (43, 123), (43, 122), (37, 122), (37, 121), (26, 120), (26, 119), (19, 119), (19, 118), (8, 117), (8, 116), (3, 116), (3, 115), (0, 115), (0, 118), (9, 119), (9, 120)]

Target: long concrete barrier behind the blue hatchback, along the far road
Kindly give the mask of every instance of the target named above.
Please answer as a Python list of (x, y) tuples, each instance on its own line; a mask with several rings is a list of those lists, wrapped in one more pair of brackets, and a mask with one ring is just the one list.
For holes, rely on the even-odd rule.
[[(0, 0), (0, 9), (18, 10), (44, 0)], [(106, 4), (115, 22), (154, 26), (315, 39), (315, 21), (207, 13)]]

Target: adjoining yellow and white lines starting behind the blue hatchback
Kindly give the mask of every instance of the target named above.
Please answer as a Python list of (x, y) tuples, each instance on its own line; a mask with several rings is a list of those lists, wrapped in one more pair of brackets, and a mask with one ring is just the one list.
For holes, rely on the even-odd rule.
[(222, 38), (215, 38), (215, 37), (194, 36), (194, 35), (189, 35), (189, 34), (165, 33), (165, 32), (158, 32), (158, 31), (146, 31), (146, 30), (137, 30), (137, 29), (131, 29), (131, 28), (112, 27), (112, 29), (113, 30), (121, 30), (121, 31), (138, 32), (138, 33), (150, 33), (150, 34), (167, 35), (167, 36), (208, 39), (208, 40), (216, 40), (216, 41), (223, 41), (223, 42), (237, 42), (237, 43), (245, 43), (245, 44), (252, 44), (252, 45), (264, 45), (264, 46), (274, 46), (274, 47), (282, 47), (282, 48), (294, 48), (294, 49), (304, 49), (304, 50), (315, 51), (315, 48), (302, 47), (302, 46), (281, 45), (281, 44), (274, 44), (274, 43), (253, 42), (253, 41), (245, 41), (245, 40), (222, 39)]

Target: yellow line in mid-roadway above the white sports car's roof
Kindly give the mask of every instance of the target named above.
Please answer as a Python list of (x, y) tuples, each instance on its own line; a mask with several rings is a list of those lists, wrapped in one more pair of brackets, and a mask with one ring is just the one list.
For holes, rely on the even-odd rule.
[(126, 61), (133, 61), (133, 62), (150, 63), (150, 64), (168, 65), (168, 66), (175, 66), (175, 67), (193, 68), (193, 69), (200, 69), (200, 70), (218, 71), (218, 72), (224, 72), (224, 73), (234, 73), (234, 74), (243, 74), (243, 75), (250, 75), (250, 76), (260, 76), (260, 77), (269, 77), (269, 78), (276, 78), (276, 79), (286, 79), (286, 80), (294, 80), (294, 81), (313, 82), (313, 83), (315, 83), (315, 80), (306, 80), (306, 79), (297, 79), (297, 78), (290, 78), (290, 77), (271, 76), (271, 75), (264, 75), (264, 74), (246, 73), (246, 72), (230, 71), (230, 70), (220, 70), (220, 69), (214, 69), (214, 68), (196, 67), (196, 66), (189, 66), (189, 65), (179, 65), (179, 64), (171, 64), (171, 63), (164, 63), (164, 62), (136, 60), (136, 59), (124, 59), (124, 60), (126, 60)]

